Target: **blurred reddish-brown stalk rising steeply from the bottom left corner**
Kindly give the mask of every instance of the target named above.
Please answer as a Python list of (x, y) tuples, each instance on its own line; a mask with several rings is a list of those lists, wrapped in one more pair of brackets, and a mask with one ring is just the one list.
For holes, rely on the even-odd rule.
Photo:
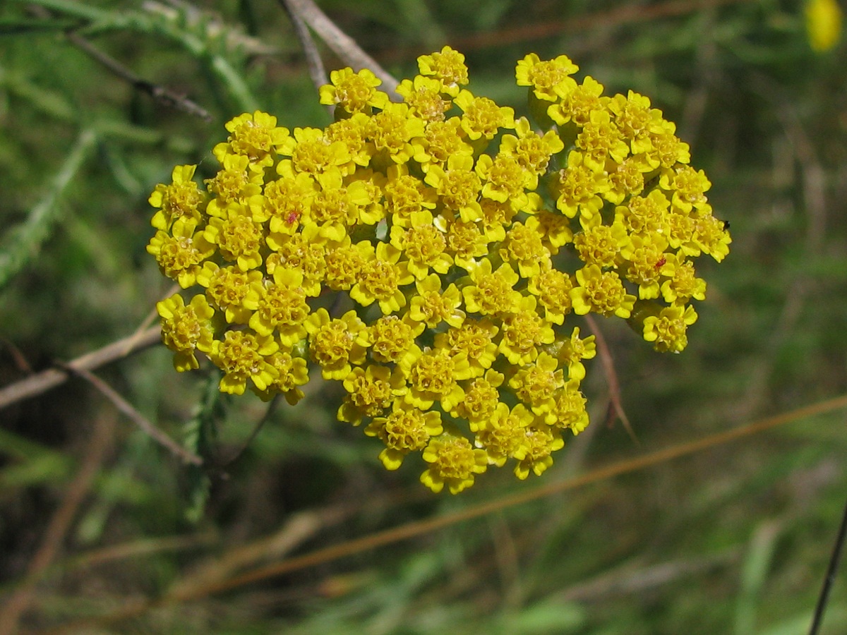
[(0, 635), (12, 635), (17, 631), (20, 618), (35, 599), (38, 582), (58, 554), (76, 511), (88, 490), (91, 489), (91, 483), (93, 483), (102, 461), (108, 454), (113, 441), (114, 427), (115, 421), (111, 413), (98, 417), (94, 431), (91, 433), (91, 440), (88, 443), (88, 451), (80, 461), (80, 471), (76, 473), (62, 504), (53, 514), (53, 518), (50, 520), (47, 531), (42, 538), (42, 544), (36, 551), (36, 555), (30, 560), (30, 566), (23, 582), (20, 583), (12, 597), (0, 610)]

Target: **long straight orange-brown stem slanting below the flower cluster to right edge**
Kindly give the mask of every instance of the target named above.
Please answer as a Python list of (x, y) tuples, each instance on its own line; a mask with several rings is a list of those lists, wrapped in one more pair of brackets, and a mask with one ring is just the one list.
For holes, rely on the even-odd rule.
[(703, 450), (710, 450), (718, 445), (728, 444), (737, 439), (752, 436), (757, 433), (765, 432), (771, 428), (785, 425), (789, 422), (796, 422), (807, 417), (815, 417), (825, 412), (832, 412), (847, 408), (847, 395), (834, 397), (833, 399), (819, 401), (811, 406), (804, 406), (793, 411), (783, 412), (783, 414), (775, 417), (767, 417), (760, 421), (750, 423), (738, 428), (731, 428), (723, 432), (711, 434), (702, 439), (689, 441), (684, 444), (672, 445), (664, 450), (656, 450), (642, 456), (637, 456), (634, 459), (626, 461), (618, 461), (606, 467), (599, 467), (590, 472), (576, 478), (567, 478), (562, 481), (548, 483), (539, 488), (529, 491), (504, 496), (497, 500), (482, 503), (480, 505), (469, 506), (463, 510), (428, 518), (423, 521), (408, 522), (400, 527), (392, 527), (384, 531), (371, 533), (362, 538), (355, 538), (341, 544), (333, 544), (323, 549), (317, 549), (307, 554), (297, 555), (288, 560), (281, 560), (268, 566), (261, 566), (250, 572), (242, 573), (241, 575), (231, 577), (223, 582), (213, 582), (205, 586), (195, 587), (188, 593), (185, 589), (182, 590), (179, 597), (174, 597), (172, 594), (166, 594), (162, 598), (151, 600), (137, 600), (125, 603), (125, 606), (118, 611), (110, 613), (106, 616), (96, 618), (94, 620), (77, 621), (73, 624), (65, 625), (53, 632), (78, 632), (82, 628), (105, 627), (107, 624), (113, 624), (119, 621), (140, 616), (148, 610), (158, 608), (164, 605), (172, 605), (174, 603), (185, 602), (192, 599), (200, 599), (208, 595), (218, 594), (224, 591), (229, 591), (233, 588), (239, 588), (246, 584), (255, 583), (261, 580), (266, 580), (270, 577), (280, 576), (285, 573), (300, 571), (307, 567), (322, 565), (327, 562), (338, 560), (340, 558), (360, 554), (363, 551), (376, 549), (377, 547), (385, 546), (386, 544), (394, 544), (409, 538), (418, 536), (426, 536), (431, 533), (450, 527), (459, 522), (466, 522), (475, 518), (487, 516), (496, 511), (501, 511), (515, 505), (523, 505), (533, 500), (544, 499), (553, 494), (561, 494), (562, 492), (578, 489), (584, 485), (591, 483), (599, 483), (609, 478), (615, 478), (629, 472), (636, 472), (660, 465), (667, 461), (690, 456)]

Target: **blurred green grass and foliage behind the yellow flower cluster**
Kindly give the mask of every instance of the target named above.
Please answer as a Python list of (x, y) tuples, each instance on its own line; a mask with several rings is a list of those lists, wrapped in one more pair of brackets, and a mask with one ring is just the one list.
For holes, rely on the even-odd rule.
[[(412, 462), (385, 472), (379, 440), (335, 422), (339, 395), (314, 380), (211, 474), (205, 500), (196, 471), (72, 379), (0, 410), (0, 616), (30, 588), (23, 627), (78, 632), (807, 632), (847, 495), (843, 410), (506, 503), (844, 393), (844, 43), (813, 51), (805, 5), (776, 0), (320, 6), (399, 78), (451, 44), (473, 92), (518, 114), (527, 52), (565, 53), (606, 94), (633, 89), (662, 108), (734, 237), (721, 266), (699, 266), (709, 288), (688, 349), (659, 355), (604, 321), (638, 444), (606, 423), (594, 360), (593, 423), (549, 472), (490, 471), (455, 497), (430, 494)], [(153, 101), (71, 30), (212, 121)], [(346, 65), (321, 50), (328, 69)], [(290, 128), (329, 123), (278, 3), (0, 4), (0, 385), (144, 323), (170, 286), (145, 251), (149, 192), (178, 163), (208, 177), (224, 122), (253, 108)], [(197, 433), (208, 380), (174, 373), (162, 346), (97, 374), (174, 438)], [(265, 406), (220, 406), (206, 441), (223, 461)], [(482, 504), (495, 511), (462, 520)], [(380, 534), (450, 514), (411, 538)], [(337, 557), (202, 588), (331, 545)], [(27, 583), (38, 558), (47, 566)], [(847, 632), (844, 572), (822, 632)]]

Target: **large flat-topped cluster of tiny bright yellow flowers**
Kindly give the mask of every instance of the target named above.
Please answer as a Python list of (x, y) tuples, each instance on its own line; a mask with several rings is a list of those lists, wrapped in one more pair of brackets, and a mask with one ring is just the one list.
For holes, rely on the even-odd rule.
[(539, 132), (463, 87), (461, 53), (418, 66), (397, 102), (368, 70), (333, 72), (324, 130), (232, 119), (205, 193), (191, 165), (152, 193), (147, 250), (202, 287), (158, 304), (177, 370), (199, 351), (224, 392), (294, 403), (311, 362), (386, 468), (420, 452), (421, 481), (456, 494), (507, 461), (541, 474), (588, 424), (594, 336), (568, 314), (626, 318), (682, 351), (706, 290), (692, 260), (722, 260), (730, 239), (646, 97), (604, 97), (567, 57), (530, 54), (517, 80)]

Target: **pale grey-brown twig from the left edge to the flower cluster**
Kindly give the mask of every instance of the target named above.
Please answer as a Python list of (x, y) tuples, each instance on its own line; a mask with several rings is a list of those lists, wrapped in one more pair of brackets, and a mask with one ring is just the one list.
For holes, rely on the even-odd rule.
[[(75, 371), (93, 370), (109, 362), (129, 356), (131, 353), (149, 348), (154, 344), (158, 344), (161, 340), (162, 329), (158, 326), (153, 327), (152, 329), (143, 331), (141, 334), (132, 334), (122, 340), (103, 346), (101, 349), (97, 349), (97, 351), (91, 351), (83, 356), (79, 356), (74, 361), (65, 364), (65, 366)], [(0, 410), (20, 400), (41, 395), (59, 384), (64, 384), (68, 380), (69, 374), (67, 370), (49, 368), (46, 371), (30, 375), (28, 378), (3, 387), (0, 389)]]

